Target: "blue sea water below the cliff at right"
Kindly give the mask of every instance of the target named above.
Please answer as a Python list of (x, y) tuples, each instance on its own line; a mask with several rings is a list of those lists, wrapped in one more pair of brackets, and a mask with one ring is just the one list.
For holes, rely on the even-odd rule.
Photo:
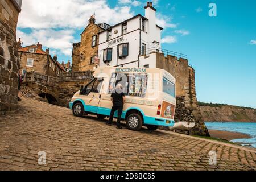
[(233, 131), (250, 135), (249, 139), (234, 139), (231, 142), (256, 148), (256, 123), (247, 122), (205, 122), (209, 130)]

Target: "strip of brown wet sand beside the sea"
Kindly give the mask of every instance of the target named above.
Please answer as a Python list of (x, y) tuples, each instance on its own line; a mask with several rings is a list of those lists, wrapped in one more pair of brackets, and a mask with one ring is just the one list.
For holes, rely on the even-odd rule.
[(220, 131), (220, 130), (209, 130), (210, 136), (214, 138), (226, 139), (226, 140), (234, 140), (241, 138), (252, 138), (250, 135), (231, 132), (231, 131)]

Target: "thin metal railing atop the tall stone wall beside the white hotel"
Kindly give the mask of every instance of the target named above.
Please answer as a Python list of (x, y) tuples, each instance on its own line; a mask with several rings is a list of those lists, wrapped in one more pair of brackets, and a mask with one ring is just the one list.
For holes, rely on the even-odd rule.
[(150, 53), (154, 53), (154, 52), (163, 53), (164, 56), (171, 55), (171, 56), (175, 56), (175, 57), (179, 57), (179, 58), (183, 58), (183, 59), (188, 59), (188, 56), (185, 55), (184, 53), (169, 51), (167, 49), (162, 49), (162, 48), (158, 48), (158, 47), (151, 47), (146, 50), (142, 50), (141, 55), (149, 55)]

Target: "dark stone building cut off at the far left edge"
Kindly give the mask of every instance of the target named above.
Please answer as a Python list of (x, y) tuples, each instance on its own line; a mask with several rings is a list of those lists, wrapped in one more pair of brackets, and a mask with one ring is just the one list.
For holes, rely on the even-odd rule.
[(18, 50), (16, 27), (22, 0), (0, 3), (0, 115), (17, 109)]

